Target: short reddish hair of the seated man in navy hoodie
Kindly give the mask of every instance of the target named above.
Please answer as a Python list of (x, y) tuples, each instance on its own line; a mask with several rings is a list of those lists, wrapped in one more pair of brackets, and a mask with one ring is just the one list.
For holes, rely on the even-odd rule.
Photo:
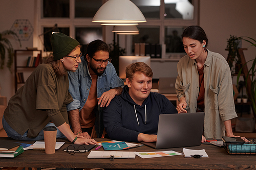
[(135, 72), (144, 73), (147, 77), (153, 78), (153, 71), (146, 63), (143, 62), (136, 62), (129, 64), (125, 68), (125, 77), (128, 78), (130, 81), (133, 80)]

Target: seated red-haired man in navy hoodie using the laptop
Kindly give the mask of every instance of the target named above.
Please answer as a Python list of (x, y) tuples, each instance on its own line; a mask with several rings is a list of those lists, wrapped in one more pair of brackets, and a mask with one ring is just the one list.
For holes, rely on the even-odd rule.
[(152, 69), (143, 62), (125, 69), (126, 84), (103, 112), (110, 139), (131, 142), (157, 140), (159, 114), (178, 113), (162, 94), (151, 92)]

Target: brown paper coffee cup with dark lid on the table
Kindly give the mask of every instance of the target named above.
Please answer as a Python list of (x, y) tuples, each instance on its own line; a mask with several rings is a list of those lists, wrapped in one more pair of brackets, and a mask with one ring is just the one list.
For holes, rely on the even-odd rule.
[(55, 126), (48, 126), (44, 129), (45, 148), (47, 154), (55, 153), (57, 128)]

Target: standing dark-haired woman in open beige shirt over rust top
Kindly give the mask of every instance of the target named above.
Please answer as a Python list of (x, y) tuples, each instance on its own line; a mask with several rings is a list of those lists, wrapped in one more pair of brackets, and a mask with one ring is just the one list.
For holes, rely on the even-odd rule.
[(199, 26), (182, 34), (186, 56), (178, 62), (176, 92), (179, 113), (205, 112), (202, 142), (206, 138), (234, 136), (231, 119), (237, 117), (231, 72), (225, 58), (206, 47), (208, 38)]

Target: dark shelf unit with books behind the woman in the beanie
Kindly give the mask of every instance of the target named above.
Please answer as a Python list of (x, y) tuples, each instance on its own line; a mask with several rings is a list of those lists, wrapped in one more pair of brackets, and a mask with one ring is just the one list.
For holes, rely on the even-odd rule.
[(17, 69), (18, 68), (35, 68), (35, 67), (27, 67), (27, 66), (18, 66), (17, 65), (17, 57), (18, 57), (18, 52), (34, 52), (34, 51), (37, 51), (37, 52), (39, 52), (39, 63), (42, 63), (42, 51), (41, 50), (15, 50), (14, 51), (14, 82), (15, 82), (15, 92), (17, 91), (17, 85), (18, 84), (24, 84), (24, 83), (18, 83), (17, 82), (17, 74), (16, 74), (16, 72), (17, 72)]

